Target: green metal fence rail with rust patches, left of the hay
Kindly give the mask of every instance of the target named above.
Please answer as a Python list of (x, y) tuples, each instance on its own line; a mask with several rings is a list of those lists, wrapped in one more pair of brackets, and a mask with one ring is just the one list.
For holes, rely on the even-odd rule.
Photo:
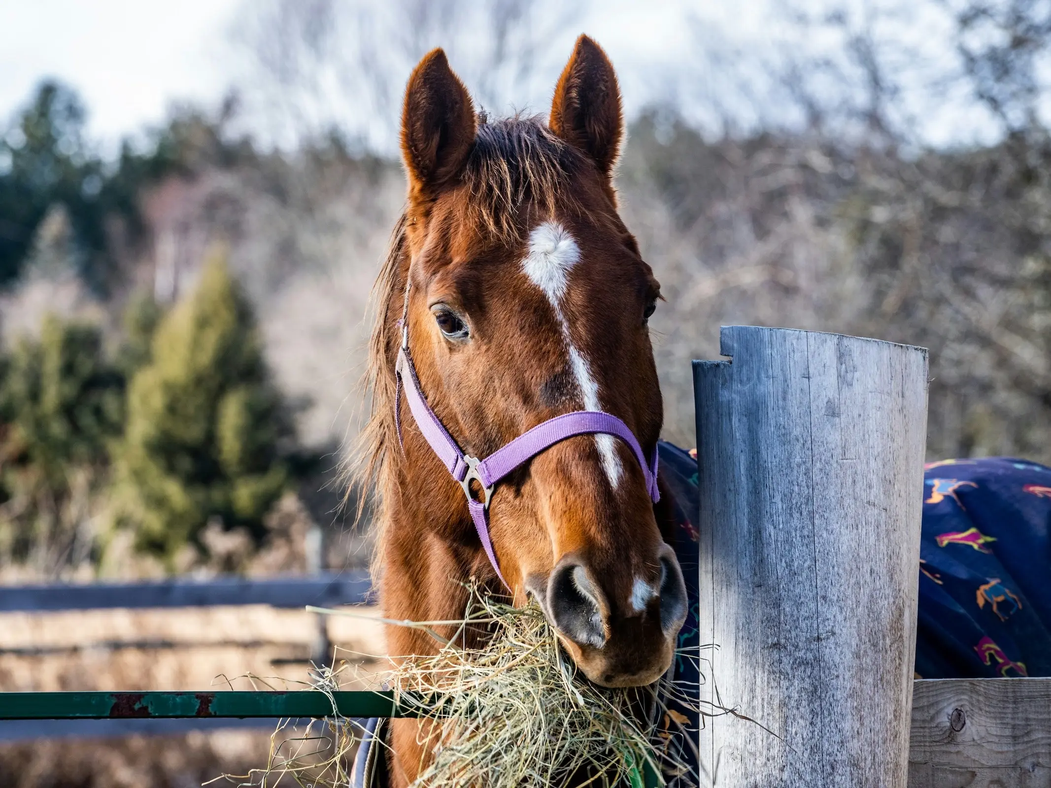
[(393, 692), (0, 692), (0, 720), (412, 717)]

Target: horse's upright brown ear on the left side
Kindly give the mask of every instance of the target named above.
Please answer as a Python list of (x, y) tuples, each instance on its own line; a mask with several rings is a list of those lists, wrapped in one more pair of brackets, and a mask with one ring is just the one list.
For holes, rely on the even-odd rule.
[(401, 108), (401, 155), (414, 194), (434, 190), (459, 173), (474, 143), (474, 106), (445, 51), (432, 49), (409, 77)]

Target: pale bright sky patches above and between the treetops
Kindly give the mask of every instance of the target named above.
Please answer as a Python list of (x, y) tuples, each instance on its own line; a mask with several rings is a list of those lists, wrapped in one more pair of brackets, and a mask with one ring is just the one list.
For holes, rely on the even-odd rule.
[[(162, 122), (173, 102), (214, 105), (231, 86), (244, 87), (251, 81), (245, 77), (245, 46), (236, 43), (234, 34), (236, 28), (244, 27), (245, 9), (255, 13), (264, 7), (262, 2), (0, 0), (0, 122), (11, 118), (33, 87), (46, 77), (59, 78), (80, 92), (89, 112), (89, 136), (110, 149), (120, 138)], [(578, 32), (593, 35), (617, 66), (630, 113), (656, 100), (673, 97), (687, 115), (689, 111), (703, 115), (702, 104), (712, 98), (722, 106), (738, 102), (740, 106), (734, 111), (740, 110), (739, 115), (747, 118), (749, 112), (776, 107), (784, 94), (783, 86), (766, 85), (762, 89), (770, 92), (764, 95), (760, 89), (747, 96), (750, 103), (744, 106), (739, 99), (758, 83), (744, 89), (735, 80), (742, 74), (746, 76), (749, 67), (777, 47), (781, 51), (809, 48), (817, 53), (823, 46), (831, 50), (837, 45), (821, 36), (794, 40), (798, 29), (792, 30), (784, 22), (788, 2), (595, 0), (591, 11), (573, 23), (574, 29), (564, 32), (565, 56)], [(945, 55), (951, 48), (945, 43), (948, 28), (944, 15), (937, 16), (937, 3), (795, 2), (808, 8), (833, 2), (862, 8), (862, 16), (873, 3), (880, 7), (897, 3), (906, 9), (906, 15), (883, 23), (882, 35), (903, 42), (911, 40), (912, 51), (920, 53), (930, 63), (948, 62)], [(382, 0), (376, 0), (375, 7), (383, 7)], [(932, 8), (935, 11), (931, 12)], [(563, 37), (558, 38), (561, 41)], [(704, 58), (713, 54), (723, 58), (722, 65), (715, 61), (705, 65)], [(910, 62), (911, 59), (910, 55)], [(455, 58), (453, 66), (456, 67)], [(544, 91), (550, 91), (549, 81), (553, 86), (557, 68), (557, 64), (544, 65), (541, 75)], [(399, 74), (405, 70), (408, 76), (408, 66), (398, 65), (397, 70)], [(552, 71), (550, 80), (548, 70)], [(543, 111), (547, 107), (535, 106), (540, 100), (539, 91), (536, 92), (526, 100), (534, 104), (533, 110)], [(964, 99), (945, 101), (940, 95), (942, 106), (935, 112), (927, 109), (928, 94), (921, 91), (916, 96), (913, 104), (918, 122), (926, 124), (922, 129), (926, 139), (941, 143), (988, 136), (988, 127), (975, 122), (975, 112)], [(341, 110), (342, 116), (336, 113), (335, 120), (346, 128), (352, 125), (355, 111), (360, 115), (360, 109), (353, 106), (353, 96), (343, 98), (350, 103)], [(257, 125), (252, 130), (266, 139), (262, 122), (250, 119), (249, 123)], [(380, 137), (387, 139), (392, 134), (384, 129)], [(375, 145), (374, 141), (372, 144)]]

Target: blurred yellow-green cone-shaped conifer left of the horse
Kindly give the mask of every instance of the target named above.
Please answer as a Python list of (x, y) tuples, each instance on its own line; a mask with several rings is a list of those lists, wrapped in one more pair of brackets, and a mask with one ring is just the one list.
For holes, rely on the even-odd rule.
[(120, 516), (141, 548), (171, 560), (206, 523), (264, 534), (285, 489), (290, 419), (251, 308), (222, 254), (166, 314), (128, 387), (118, 452)]

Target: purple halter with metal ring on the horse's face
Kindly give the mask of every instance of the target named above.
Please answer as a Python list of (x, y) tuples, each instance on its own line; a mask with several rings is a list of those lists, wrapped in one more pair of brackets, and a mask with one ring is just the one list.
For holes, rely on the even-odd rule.
[[(409, 354), (409, 328), (407, 324), (409, 291), (406, 288), (405, 295), (406, 313), (401, 316), (401, 347), (398, 350), (397, 362), (394, 372), (397, 377), (397, 388), (405, 385), (405, 396), (409, 400), (409, 410), (416, 420), (416, 426), (423, 433), (424, 438), (431, 449), (441, 460), (453, 478), (458, 481), (463, 492), (467, 494), (467, 505), (471, 512), (471, 519), (474, 521), (474, 528), (478, 532), (478, 539), (481, 540), (482, 549), (489, 557), (489, 562), (496, 569), (496, 575), (503, 584), (511, 589), (508, 581), (500, 573), (499, 562), (496, 560), (496, 553), (493, 551), (493, 542), (489, 536), (489, 501), (493, 496), (493, 488), (504, 476), (510, 474), (519, 465), (528, 462), (540, 452), (575, 435), (588, 435), (593, 433), (605, 433), (616, 435), (631, 447), (635, 458), (639, 461), (642, 475), (646, 481), (646, 491), (654, 503), (660, 500), (660, 493), (657, 490), (657, 452), (654, 451), (652, 462), (646, 461), (642, 453), (642, 447), (636, 440), (635, 435), (623, 421), (616, 416), (602, 411), (574, 411), (564, 413), (561, 416), (549, 418), (532, 430), (519, 435), (510, 443), (506, 443), (497, 449), (485, 459), (472, 457), (460, 451), (456, 441), (446, 430), (441, 420), (434, 415), (434, 411), (427, 403), (427, 397), (419, 388), (419, 378), (416, 377), (416, 368), (412, 364), (412, 356)], [(408, 373), (408, 374), (406, 374)], [(398, 438), (401, 437), (400, 419), (400, 394), (395, 391), (394, 395), (394, 420), (398, 429)], [(477, 480), (482, 489), (482, 500), (476, 501), (471, 493), (471, 481)]]

